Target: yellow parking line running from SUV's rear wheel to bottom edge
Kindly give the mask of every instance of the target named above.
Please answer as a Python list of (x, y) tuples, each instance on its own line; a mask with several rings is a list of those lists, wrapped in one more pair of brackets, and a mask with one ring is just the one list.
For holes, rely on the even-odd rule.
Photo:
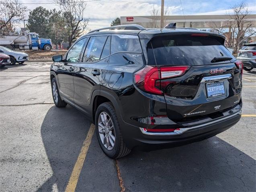
[(83, 146), (81, 148), (80, 154), (76, 160), (76, 164), (73, 168), (72, 174), (70, 176), (70, 180), (68, 181), (68, 185), (66, 186), (65, 192), (74, 192), (76, 190), (76, 184), (78, 182), (80, 172), (84, 165), (84, 160), (86, 158), (86, 154), (88, 152), (88, 148), (92, 140), (94, 129), (95, 129), (94, 124), (91, 124), (88, 134), (86, 136), (86, 139), (84, 140)]

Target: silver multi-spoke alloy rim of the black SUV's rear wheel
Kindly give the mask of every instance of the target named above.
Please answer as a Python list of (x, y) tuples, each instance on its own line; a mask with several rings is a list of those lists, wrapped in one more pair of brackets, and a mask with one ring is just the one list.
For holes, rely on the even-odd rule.
[(115, 129), (111, 117), (106, 112), (101, 112), (98, 117), (98, 131), (104, 147), (112, 150), (115, 146)]

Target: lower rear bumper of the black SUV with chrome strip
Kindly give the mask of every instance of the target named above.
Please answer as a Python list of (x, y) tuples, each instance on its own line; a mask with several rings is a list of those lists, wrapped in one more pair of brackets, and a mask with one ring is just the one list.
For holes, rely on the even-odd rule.
[[(205, 123), (199, 127), (187, 128), (186, 131), (176, 134), (145, 134), (140, 128), (129, 126), (123, 130), (125, 143), (128, 148), (139, 148), (150, 151), (162, 148), (181, 146), (197, 142), (219, 134), (235, 125), (241, 118), (241, 110), (218, 121)], [(127, 131), (129, 130), (129, 131)], [(127, 136), (130, 136), (128, 138)]]

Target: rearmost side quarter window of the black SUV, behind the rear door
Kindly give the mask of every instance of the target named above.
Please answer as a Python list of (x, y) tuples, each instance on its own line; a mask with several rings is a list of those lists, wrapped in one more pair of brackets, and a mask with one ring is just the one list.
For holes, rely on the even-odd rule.
[(139, 37), (135, 35), (113, 35), (111, 37), (111, 54), (125, 51), (142, 52)]

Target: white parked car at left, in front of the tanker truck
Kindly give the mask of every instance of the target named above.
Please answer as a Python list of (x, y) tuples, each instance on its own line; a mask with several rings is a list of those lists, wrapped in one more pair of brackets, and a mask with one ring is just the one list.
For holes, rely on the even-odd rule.
[(13, 51), (6, 47), (0, 46), (0, 53), (4, 53), (10, 56), (11, 64), (14, 65), (16, 62), (23, 64), (25, 61), (29, 60), (29, 55), (23, 52)]

